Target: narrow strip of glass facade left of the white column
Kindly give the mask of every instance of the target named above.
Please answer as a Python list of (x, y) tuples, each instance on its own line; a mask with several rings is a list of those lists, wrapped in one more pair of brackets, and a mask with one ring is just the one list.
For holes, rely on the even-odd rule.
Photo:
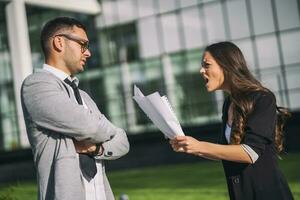
[(4, 10), (0, 2), (0, 151), (17, 149), (20, 144)]

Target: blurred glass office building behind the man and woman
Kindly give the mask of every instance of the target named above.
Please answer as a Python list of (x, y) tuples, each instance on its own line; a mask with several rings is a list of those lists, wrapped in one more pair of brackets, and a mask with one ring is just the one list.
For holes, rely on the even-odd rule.
[[(298, 0), (74, 0), (74, 5), (67, 0), (24, 0), (22, 6), (19, 2), (0, 0), (1, 151), (28, 145), (18, 89), (24, 77), (42, 67), (42, 25), (62, 15), (88, 27), (92, 57), (79, 75), (80, 87), (128, 134), (155, 129), (132, 100), (133, 85), (145, 94), (167, 95), (185, 127), (218, 122), (224, 94), (207, 93), (199, 70), (205, 46), (224, 40), (242, 49), (249, 68), (275, 93), (279, 105), (300, 110)], [(20, 25), (14, 24), (19, 22), (10, 19), (20, 7), (25, 33), (15, 33), (14, 27), (18, 30)], [(27, 41), (26, 52), (15, 51), (21, 50), (12, 37)], [(25, 67), (16, 61), (24, 57)]]

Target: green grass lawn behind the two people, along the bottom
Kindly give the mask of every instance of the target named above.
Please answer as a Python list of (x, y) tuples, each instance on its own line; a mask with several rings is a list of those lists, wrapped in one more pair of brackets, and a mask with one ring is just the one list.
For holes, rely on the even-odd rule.
[[(300, 199), (300, 154), (280, 161), (295, 199)], [(220, 162), (157, 166), (108, 173), (116, 195), (130, 200), (225, 200), (226, 183)], [(15, 183), (0, 187), (0, 200), (36, 199), (36, 183)]]

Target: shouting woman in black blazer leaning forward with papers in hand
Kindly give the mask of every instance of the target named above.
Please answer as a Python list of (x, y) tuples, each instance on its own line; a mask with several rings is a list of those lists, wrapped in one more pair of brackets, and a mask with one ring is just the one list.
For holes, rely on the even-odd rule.
[(277, 164), (282, 129), (289, 113), (251, 75), (240, 49), (231, 42), (206, 47), (201, 75), (209, 92), (228, 94), (223, 105), (220, 144), (177, 136), (177, 152), (222, 160), (230, 199), (293, 199)]

